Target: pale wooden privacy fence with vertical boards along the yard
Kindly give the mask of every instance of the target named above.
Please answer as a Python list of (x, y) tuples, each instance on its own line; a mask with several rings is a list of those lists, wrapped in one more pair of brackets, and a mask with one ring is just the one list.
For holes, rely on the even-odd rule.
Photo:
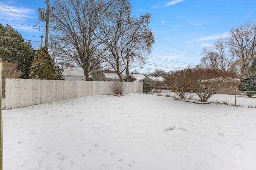
[[(34, 80), (6, 78), (5, 108), (18, 108), (79, 98), (88, 95), (110, 95), (115, 82)], [(143, 93), (142, 82), (123, 82), (125, 92)]]

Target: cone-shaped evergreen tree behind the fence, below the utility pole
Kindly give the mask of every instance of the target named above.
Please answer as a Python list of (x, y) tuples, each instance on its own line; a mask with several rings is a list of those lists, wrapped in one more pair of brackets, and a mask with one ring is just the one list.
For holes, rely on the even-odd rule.
[(31, 79), (56, 80), (55, 64), (47, 48), (38, 49), (30, 69)]

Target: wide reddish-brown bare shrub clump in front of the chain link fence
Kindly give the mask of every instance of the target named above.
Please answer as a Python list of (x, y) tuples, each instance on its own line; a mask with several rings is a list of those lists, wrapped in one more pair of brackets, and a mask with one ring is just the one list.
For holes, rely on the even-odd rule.
[(236, 78), (233, 72), (212, 68), (192, 68), (177, 70), (166, 77), (165, 83), (184, 99), (187, 92), (194, 91), (201, 102), (206, 102), (222, 86)]

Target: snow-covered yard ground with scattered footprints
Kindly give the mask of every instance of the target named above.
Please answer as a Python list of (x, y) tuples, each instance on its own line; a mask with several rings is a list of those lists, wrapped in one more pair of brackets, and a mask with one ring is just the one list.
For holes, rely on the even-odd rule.
[(3, 110), (5, 170), (254, 170), (256, 109), (151, 94)]

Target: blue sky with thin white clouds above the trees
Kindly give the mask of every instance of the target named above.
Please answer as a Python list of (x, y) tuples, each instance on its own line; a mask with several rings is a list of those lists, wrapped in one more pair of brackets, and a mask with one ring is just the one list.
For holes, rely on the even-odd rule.
[[(7, 23), (33, 40), (37, 48), (44, 35), (44, 22), (36, 23), (38, 8), (44, 0), (0, 0), (0, 23)], [(50, 0), (51, 2), (51, 0)], [(156, 43), (144, 68), (171, 71), (194, 66), (202, 58), (202, 48), (218, 38), (228, 37), (230, 28), (256, 20), (256, 0), (130, 0), (132, 14), (152, 14), (150, 28)], [(8, 10), (7, 10), (7, 9)], [(12, 12), (11, 12), (11, 11)], [(15, 14), (15, 13), (17, 14)], [(18, 15), (20, 14), (20, 15)], [(41, 29), (39, 29), (41, 27)], [(29, 36), (28, 36), (29, 35)], [(135, 65), (135, 64), (134, 64)], [(135, 68), (132, 68), (134, 70)]]

